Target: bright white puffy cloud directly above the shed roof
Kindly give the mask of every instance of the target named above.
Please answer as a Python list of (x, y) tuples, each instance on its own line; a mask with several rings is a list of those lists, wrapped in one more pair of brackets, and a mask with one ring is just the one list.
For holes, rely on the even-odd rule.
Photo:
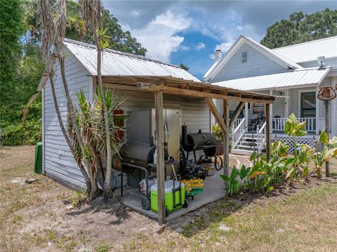
[[(191, 20), (171, 11), (157, 15), (146, 27), (131, 29), (131, 34), (147, 48), (147, 57), (168, 62), (171, 53), (178, 51), (184, 37), (176, 35), (191, 25)], [(187, 49), (183, 47), (183, 49)]]

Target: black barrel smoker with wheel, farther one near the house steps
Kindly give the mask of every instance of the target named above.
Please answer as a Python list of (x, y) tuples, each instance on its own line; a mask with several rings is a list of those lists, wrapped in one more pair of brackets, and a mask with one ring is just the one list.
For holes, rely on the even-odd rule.
[(188, 154), (193, 152), (194, 160), (197, 162), (197, 156), (195, 151), (203, 150), (204, 155), (199, 159), (199, 163), (208, 163), (211, 161), (211, 157), (214, 157), (214, 168), (220, 171), (223, 168), (223, 144), (216, 141), (216, 137), (213, 133), (203, 133), (199, 130), (198, 133), (190, 133), (187, 135), (187, 126), (182, 127), (182, 147)]

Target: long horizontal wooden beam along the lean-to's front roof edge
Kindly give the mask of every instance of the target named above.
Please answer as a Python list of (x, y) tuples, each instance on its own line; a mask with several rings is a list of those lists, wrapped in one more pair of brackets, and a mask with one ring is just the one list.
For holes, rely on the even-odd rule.
[[(253, 99), (253, 98), (240, 98), (237, 96), (232, 95), (221, 95), (219, 93), (208, 93), (208, 92), (201, 92), (201, 91), (194, 91), (190, 89), (184, 88), (174, 88), (172, 86), (165, 86), (165, 85), (154, 85), (154, 84), (146, 84), (140, 83), (138, 84), (138, 88), (141, 90), (147, 91), (163, 91), (164, 93), (171, 93), (173, 95), (187, 95), (187, 96), (195, 96), (200, 98), (211, 98), (211, 99), (220, 99), (220, 100), (236, 100), (238, 102), (254, 102), (254, 103), (271, 103), (272, 100), (260, 100), (260, 99)], [(253, 95), (251, 95), (253, 97)]]

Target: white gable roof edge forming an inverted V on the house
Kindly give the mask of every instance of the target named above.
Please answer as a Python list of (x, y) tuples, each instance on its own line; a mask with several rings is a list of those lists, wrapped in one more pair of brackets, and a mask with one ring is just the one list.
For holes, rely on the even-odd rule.
[(289, 60), (288, 58), (284, 57), (283, 55), (280, 55), (279, 53), (270, 50), (270, 48), (267, 48), (261, 44), (259, 44), (256, 41), (253, 41), (253, 39), (249, 39), (245, 37), (244, 35), (240, 35), (237, 41), (234, 42), (234, 44), (230, 47), (230, 49), (227, 51), (226, 55), (221, 58), (218, 62), (216, 62), (208, 72), (204, 75), (204, 79), (206, 81), (211, 81), (213, 77), (220, 72), (220, 70), (225, 66), (225, 64), (232, 58), (232, 55), (239, 50), (239, 48), (242, 46), (242, 44), (248, 44), (252, 48), (254, 48), (256, 51), (259, 51), (263, 55), (267, 56), (271, 60), (277, 62), (279, 65), (282, 65), (286, 69), (302, 69), (300, 65), (298, 65), (296, 62), (293, 62), (293, 60)]

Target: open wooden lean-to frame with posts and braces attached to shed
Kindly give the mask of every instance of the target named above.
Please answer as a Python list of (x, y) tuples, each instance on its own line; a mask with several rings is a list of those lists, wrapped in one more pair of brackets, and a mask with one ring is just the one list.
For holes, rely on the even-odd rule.
[[(157, 148), (157, 184), (158, 184), (158, 222), (166, 223), (164, 200), (164, 119), (163, 119), (163, 94), (178, 95), (184, 98), (204, 99), (216, 122), (223, 131), (224, 169), (225, 175), (229, 175), (229, 133), (230, 127), (237, 119), (245, 102), (265, 104), (266, 119), (266, 154), (270, 159), (270, 104), (275, 100), (274, 96), (239, 91), (196, 81), (188, 81), (176, 77), (159, 76), (103, 76), (103, 84), (107, 88), (121, 91), (151, 92), (154, 94), (154, 109), (156, 122), (156, 148)], [(223, 100), (223, 115), (218, 113), (213, 99)], [(229, 117), (230, 100), (239, 102), (232, 118)]]

